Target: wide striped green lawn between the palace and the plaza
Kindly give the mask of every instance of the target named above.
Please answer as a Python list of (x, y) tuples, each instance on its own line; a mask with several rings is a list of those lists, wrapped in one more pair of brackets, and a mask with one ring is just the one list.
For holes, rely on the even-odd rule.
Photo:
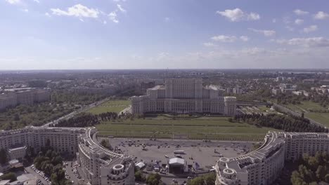
[[(247, 123), (230, 123), (228, 118), (135, 119), (133, 121), (108, 121), (96, 125), (98, 135), (115, 137), (172, 138), (172, 135), (188, 135), (190, 139), (262, 140), (271, 128), (257, 128)], [(207, 136), (206, 136), (207, 135)]]

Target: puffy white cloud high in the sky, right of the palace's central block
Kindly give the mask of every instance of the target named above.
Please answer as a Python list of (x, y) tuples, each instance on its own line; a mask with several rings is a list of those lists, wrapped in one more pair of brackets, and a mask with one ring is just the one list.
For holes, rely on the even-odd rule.
[(225, 10), (225, 11), (217, 11), (217, 14), (226, 17), (228, 20), (232, 22), (238, 22), (241, 20), (259, 20), (260, 16), (258, 13), (245, 13), (241, 11), (240, 8), (236, 8), (233, 10)]

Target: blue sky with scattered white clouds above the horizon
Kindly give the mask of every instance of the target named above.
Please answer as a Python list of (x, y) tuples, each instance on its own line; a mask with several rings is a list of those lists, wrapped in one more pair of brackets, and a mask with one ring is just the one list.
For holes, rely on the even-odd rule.
[(0, 69), (329, 68), (329, 1), (0, 0)]

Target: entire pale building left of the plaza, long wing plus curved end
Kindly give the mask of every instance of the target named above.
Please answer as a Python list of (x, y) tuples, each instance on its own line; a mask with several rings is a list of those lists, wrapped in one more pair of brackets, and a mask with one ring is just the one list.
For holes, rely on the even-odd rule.
[[(103, 148), (96, 139), (95, 128), (32, 127), (0, 131), (0, 149), (6, 149), (11, 159), (22, 159), (27, 146), (37, 153), (49, 140), (60, 153), (77, 154), (84, 176), (90, 184), (134, 185), (134, 163), (127, 155)], [(8, 170), (0, 165), (0, 172)], [(83, 182), (86, 184), (86, 182)]]

